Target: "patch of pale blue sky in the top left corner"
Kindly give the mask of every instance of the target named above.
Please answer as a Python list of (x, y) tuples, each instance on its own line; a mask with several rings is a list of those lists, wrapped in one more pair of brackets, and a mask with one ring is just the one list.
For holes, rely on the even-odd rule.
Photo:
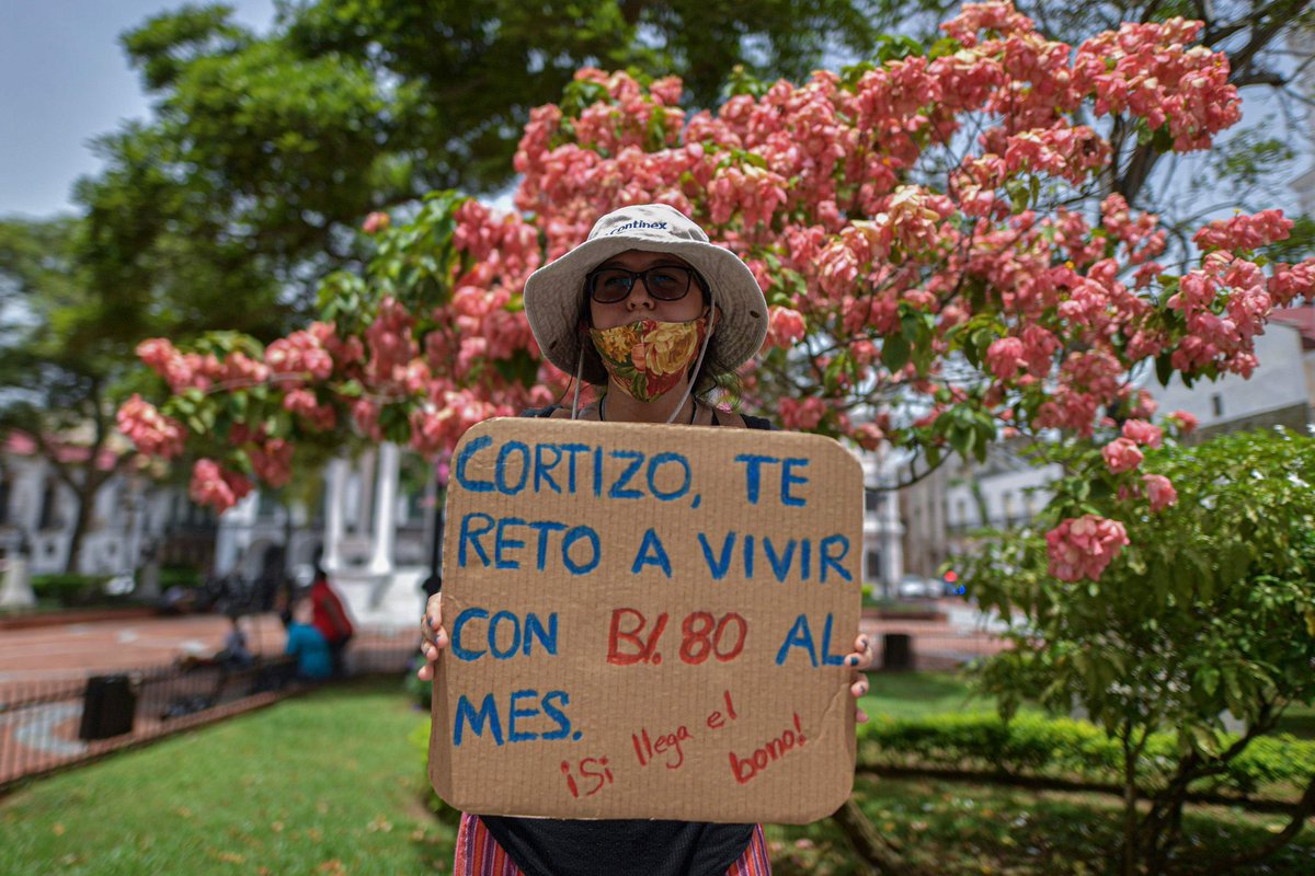
[[(0, 0), (0, 215), (72, 211), (91, 141), (150, 108), (118, 35), (184, 0)], [(264, 32), (274, 0), (226, 0)]]

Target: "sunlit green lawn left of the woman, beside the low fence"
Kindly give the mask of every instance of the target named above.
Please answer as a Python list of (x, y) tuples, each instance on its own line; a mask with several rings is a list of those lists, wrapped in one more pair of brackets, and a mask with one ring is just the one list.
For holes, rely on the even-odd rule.
[(0, 801), (0, 873), (442, 872), (397, 682), (289, 700)]

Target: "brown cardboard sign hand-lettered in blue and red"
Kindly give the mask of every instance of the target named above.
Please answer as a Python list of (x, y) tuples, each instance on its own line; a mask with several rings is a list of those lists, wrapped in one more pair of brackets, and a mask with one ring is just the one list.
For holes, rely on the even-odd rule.
[(443, 800), (789, 823), (846, 801), (863, 471), (843, 447), (489, 420), (456, 449), (446, 520)]

